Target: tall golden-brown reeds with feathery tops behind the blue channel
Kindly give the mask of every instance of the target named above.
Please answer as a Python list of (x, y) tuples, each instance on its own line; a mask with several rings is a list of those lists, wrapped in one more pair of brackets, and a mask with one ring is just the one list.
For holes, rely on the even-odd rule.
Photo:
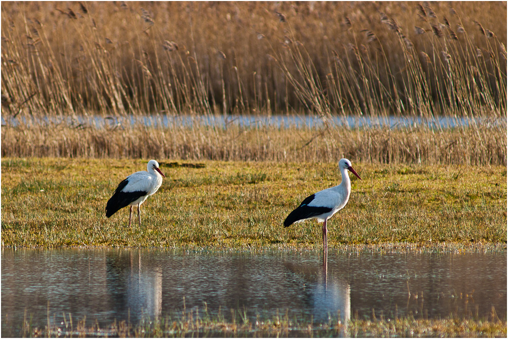
[(505, 46), (505, 2), (3, 2), (3, 113), (502, 116)]

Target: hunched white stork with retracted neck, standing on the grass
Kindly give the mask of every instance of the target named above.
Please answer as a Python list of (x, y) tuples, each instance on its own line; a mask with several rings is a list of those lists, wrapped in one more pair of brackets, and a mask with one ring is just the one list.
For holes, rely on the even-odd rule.
[(132, 207), (138, 205), (138, 222), (141, 226), (140, 206), (148, 196), (157, 192), (161, 187), (162, 177), (166, 177), (166, 175), (158, 168), (158, 163), (155, 160), (148, 162), (146, 172), (139, 171), (126, 177), (118, 184), (113, 196), (108, 200), (106, 217), (111, 217), (120, 208), (131, 206), (129, 214), (129, 227), (131, 227)]

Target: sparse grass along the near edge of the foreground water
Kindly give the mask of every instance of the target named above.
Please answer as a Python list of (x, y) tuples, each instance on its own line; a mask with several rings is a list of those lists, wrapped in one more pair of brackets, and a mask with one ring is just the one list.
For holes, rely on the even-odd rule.
[(182, 312), (175, 317), (145, 319), (140, 324), (125, 321), (107, 327), (87, 327), (83, 320), (69, 321), (60, 326), (34, 328), (26, 322), (24, 337), (68, 335), (76, 337), (505, 337), (506, 321), (496, 317), (473, 319), (450, 316), (427, 320), (414, 317), (373, 320), (353, 319), (347, 323), (330, 317), (328, 322), (314, 324), (298, 321), (287, 315), (252, 322), (242, 311), (232, 310), (233, 319), (209, 316), (206, 313)]

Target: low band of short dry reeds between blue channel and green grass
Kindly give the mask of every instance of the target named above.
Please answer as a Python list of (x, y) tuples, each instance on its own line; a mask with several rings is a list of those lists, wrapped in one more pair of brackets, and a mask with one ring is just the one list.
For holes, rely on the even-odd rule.
[(2, 157), (505, 165), (505, 128), (4, 127)]

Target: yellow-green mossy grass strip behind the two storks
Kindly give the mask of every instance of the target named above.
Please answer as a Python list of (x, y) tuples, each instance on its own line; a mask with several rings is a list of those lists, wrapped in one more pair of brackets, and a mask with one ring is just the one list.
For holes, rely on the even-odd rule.
[[(337, 163), (190, 162), (158, 159), (166, 174), (142, 205), (110, 219), (106, 202), (147, 160), (2, 159), (2, 245), (185, 249), (320, 249), (315, 221), (284, 229), (309, 194), (340, 183)], [(184, 165), (184, 166), (182, 166)], [(506, 248), (506, 167), (353, 163), (328, 246)]]

